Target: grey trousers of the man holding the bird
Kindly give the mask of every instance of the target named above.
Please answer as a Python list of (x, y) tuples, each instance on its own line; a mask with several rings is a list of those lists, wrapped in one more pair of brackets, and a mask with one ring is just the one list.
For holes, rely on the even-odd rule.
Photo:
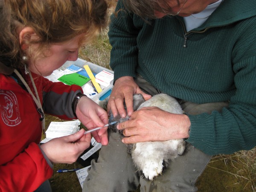
[[(136, 82), (145, 93), (160, 93), (140, 76)], [(228, 105), (228, 102), (179, 102), (183, 110), (192, 115), (221, 111)], [(108, 140), (108, 145), (102, 146), (99, 159), (91, 162), (83, 192), (128, 192), (136, 190), (139, 184), (140, 192), (195, 192), (195, 182), (211, 159), (211, 156), (187, 143), (186, 152), (170, 162), (163, 175), (154, 178), (153, 181), (145, 180), (134, 167), (126, 145), (121, 142), (122, 136), (108, 130)]]

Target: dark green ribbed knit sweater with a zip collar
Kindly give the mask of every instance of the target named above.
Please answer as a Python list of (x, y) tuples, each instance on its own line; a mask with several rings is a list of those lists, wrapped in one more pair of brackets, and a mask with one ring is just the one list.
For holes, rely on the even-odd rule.
[[(256, 0), (224, 0), (202, 26), (190, 32), (182, 17), (146, 23), (127, 11), (112, 15), (108, 35), (114, 78), (139, 73), (163, 93), (179, 99), (230, 101), (221, 113), (189, 115), (191, 131), (186, 141), (212, 155), (253, 148), (255, 7)], [(119, 0), (116, 10), (121, 8)]]

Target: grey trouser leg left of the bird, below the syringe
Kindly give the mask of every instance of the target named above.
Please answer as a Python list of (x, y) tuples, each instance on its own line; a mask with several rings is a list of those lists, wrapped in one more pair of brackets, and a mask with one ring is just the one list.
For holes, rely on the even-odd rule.
[(108, 145), (102, 146), (98, 160), (92, 160), (83, 192), (128, 192), (136, 190), (139, 175), (119, 133), (108, 131)]

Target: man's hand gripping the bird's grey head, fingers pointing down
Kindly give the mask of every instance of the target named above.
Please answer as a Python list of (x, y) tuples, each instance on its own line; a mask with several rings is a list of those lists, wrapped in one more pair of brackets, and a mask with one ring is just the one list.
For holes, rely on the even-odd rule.
[(131, 76), (123, 76), (116, 79), (113, 90), (108, 100), (108, 112), (111, 110), (113, 116), (118, 113), (122, 118), (126, 116), (124, 108), (124, 101), (127, 108), (128, 116), (133, 113), (133, 95), (142, 94), (145, 100), (151, 98), (151, 95), (144, 93), (140, 87), (135, 83)]

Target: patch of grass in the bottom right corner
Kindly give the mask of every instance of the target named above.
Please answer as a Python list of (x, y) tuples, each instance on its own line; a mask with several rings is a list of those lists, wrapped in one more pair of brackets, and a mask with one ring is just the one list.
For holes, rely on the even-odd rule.
[(202, 192), (256, 192), (256, 148), (212, 157), (197, 186)]

